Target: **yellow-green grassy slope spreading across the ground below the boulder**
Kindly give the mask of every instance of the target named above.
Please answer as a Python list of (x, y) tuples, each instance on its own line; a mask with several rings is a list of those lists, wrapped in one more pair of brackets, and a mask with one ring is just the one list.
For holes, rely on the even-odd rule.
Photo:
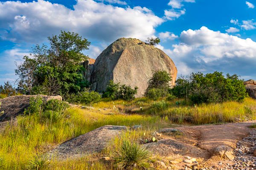
[[(237, 118), (256, 118), (256, 100), (250, 98), (242, 103), (226, 102), (200, 106), (176, 105), (176, 102), (174, 99), (160, 105), (158, 102), (143, 98), (131, 102), (105, 100), (93, 105), (96, 109), (91, 111), (72, 108), (68, 111), (70, 116), (67, 119), (52, 125), (41, 122), (35, 115), (19, 116), (17, 123), (10, 124), (0, 133), (0, 157), (4, 159), (4, 169), (25, 169), (28, 160), (36, 153), (45, 153), (61, 142), (103, 125), (142, 125), (139, 133), (124, 132), (121, 137), (137, 140), (143, 138), (144, 132), (146, 136), (151, 136), (154, 130), (169, 127), (172, 122), (207, 124), (235, 122)], [(152, 105), (160, 106), (154, 110), (151, 108)], [(102, 153), (105, 156), (115, 154), (120, 139), (114, 139), (110, 143), (108, 149)], [(93, 159), (93, 156), (85, 156), (80, 160), (52, 161), (50, 169), (112, 169), (112, 165), (99, 161), (91, 166), (90, 161)]]

